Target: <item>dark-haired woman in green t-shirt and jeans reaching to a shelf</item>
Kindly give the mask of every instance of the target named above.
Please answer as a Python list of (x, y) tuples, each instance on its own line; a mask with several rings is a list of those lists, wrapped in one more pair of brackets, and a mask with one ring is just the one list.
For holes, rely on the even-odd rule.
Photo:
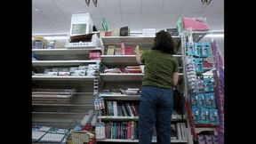
[(173, 109), (172, 87), (179, 79), (179, 64), (173, 57), (172, 36), (164, 30), (156, 33), (154, 47), (143, 52), (136, 49), (136, 60), (145, 64), (140, 95), (139, 143), (151, 144), (156, 126), (157, 144), (171, 143)]

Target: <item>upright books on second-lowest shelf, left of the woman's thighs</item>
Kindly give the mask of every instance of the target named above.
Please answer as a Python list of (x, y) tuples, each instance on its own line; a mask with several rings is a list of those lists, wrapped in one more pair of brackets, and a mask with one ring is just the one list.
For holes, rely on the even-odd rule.
[(104, 116), (139, 116), (138, 101), (106, 101)]

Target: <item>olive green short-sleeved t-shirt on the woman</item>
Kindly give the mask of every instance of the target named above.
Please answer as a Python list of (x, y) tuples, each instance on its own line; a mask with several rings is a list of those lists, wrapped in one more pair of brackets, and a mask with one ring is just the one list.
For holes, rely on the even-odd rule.
[(176, 57), (173, 57), (171, 53), (148, 50), (142, 53), (141, 62), (145, 64), (142, 85), (172, 88), (172, 74), (179, 72)]

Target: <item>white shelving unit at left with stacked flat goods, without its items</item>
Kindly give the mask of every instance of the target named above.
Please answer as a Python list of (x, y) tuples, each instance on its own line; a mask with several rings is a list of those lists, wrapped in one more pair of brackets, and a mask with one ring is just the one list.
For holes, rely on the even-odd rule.
[[(38, 73), (44, 73), (44, 68), (68, 68), (96, 64), (100, 60), (89, 60), (89, 52), (100, 51), (101, 48), (56, 48), (56, 49), (32, 49), (38, 60), (32, 60), (32, 67)], [(93, 82), (97, 76), (31, 76), (36, 88), (73, 89), (76, 92), (70, 100), (59, 102), (36, 98), (32, 101), (32, 123), (56, 125), (63, 128), (74, 128), (86, 115), (93, 105)], [(44, 93), (53, 94), (53, 93)], [(43, 102), (42, 102), (43, 100)], [(65, 122), (65, 124), (62, 122)], [(76, 123), (75, 123), (76, 122)]]

